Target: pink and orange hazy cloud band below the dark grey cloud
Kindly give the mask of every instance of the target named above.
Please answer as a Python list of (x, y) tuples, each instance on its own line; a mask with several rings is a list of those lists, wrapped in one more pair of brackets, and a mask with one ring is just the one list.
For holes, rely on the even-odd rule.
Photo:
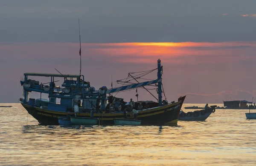
[[(81, 48), (81, 73), (96, 89), (110, 87), (111, 74), (115, 85), (114, 80), (126, 78), (129, 72), (156, 68), (157, 59), (161, 59), (169, 101), (187, 94), (186, 103), (221, 103), (229, 96), (249, 100), (256, 93), (248, 93), (256, 82), (256, 42), (82, 43)], [(0, 87), (6, 87), (2, 102), (21, 97), (19, 79), (23, 73), (58, 73), (54, 68), (61, 73), (79, 73), (79, 43), (2, 42), (0, 51), (0, 77), (5, 78)], [(156, 76), (152, 73), (146, 79)], [(139, 92), (140, 100), (154, 100), (143, 90)], [(134, 95), (133, 90), (118, 94), (126, 99)]]

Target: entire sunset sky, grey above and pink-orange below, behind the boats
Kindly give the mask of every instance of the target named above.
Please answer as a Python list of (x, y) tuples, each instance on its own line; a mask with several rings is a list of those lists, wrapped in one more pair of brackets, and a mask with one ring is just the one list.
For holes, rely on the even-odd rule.
[[(22, 97), (23, 73), (57, 73), (56, 68), (79, 74), (78, 18), (81, 73), (96, 89), (110, 88), (111, 75), (114, 87), (120, 86), (115, 81), (128, 72), (157, 68), (161, 59), (168, 101), (182, 95), (186, 103), (251, 101), (255, 6), (255, 0), (1, 1), (0, 103)], [(138, 92), (139, 100), (154, 100)], [(118, 96), (135, 100), (135, 94)]]

